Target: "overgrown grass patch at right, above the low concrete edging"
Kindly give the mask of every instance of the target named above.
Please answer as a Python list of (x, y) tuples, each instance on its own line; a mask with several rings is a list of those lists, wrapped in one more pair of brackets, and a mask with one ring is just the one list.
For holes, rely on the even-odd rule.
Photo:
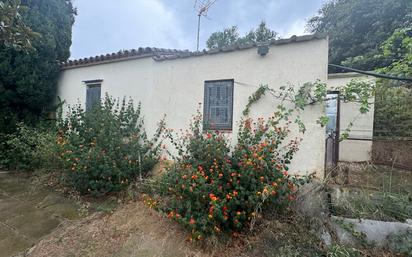
[[(339, 183), (341, 181), (346, 183)], [(343, 164), (330, 184), (338, 185), (346, 192), (345, 196), (332, 202), (335, 215), (400, 222), (412, 218), (411, 171)]]

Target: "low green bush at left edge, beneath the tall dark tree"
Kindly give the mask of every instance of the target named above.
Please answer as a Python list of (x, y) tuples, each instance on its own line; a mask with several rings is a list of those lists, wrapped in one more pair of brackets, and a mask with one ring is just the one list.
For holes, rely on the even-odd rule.
[(56, 134), (46, 125), (29, 127), (19, 123), (13, 134), (3, 135), (0, 167), (7, 170), (33, 171), (56, 165)]

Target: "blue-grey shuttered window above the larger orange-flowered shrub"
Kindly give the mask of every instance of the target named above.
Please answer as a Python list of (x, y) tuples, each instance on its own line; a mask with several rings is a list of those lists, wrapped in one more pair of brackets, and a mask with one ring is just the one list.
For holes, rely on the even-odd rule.
[(232, 130), (233, 79), (205, 81), (204, 129)]

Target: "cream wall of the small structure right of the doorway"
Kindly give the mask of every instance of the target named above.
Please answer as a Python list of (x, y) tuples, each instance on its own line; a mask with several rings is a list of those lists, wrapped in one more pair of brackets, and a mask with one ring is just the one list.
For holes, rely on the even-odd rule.
[[(343, 86), (351, 80), (374, 81), (372, 77), (357, 73), (329, 74), (328, 86)], [(374, 99), (370, 99), (371, 102)], [(339, 143), (339, 161), (364, 162), (371, 160), (374, 106), (368, 113), (359, 112), (359, 104), (343, 103), (340, 106), (341, 133), (353, 122), (349, 138)]]

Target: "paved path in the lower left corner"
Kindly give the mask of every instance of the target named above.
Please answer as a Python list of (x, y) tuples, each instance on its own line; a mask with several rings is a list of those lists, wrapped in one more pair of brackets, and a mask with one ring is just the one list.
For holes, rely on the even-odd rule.
[(0, 257), (18, 254), (64, 220), (79, 218), (77, 205), (34, 186), (28, 177), (0, 173)]

